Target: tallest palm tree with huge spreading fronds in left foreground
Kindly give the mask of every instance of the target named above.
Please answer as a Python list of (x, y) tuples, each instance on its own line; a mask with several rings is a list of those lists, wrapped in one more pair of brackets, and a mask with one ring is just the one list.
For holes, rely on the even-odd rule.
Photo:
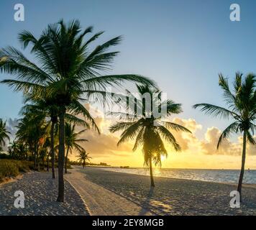
[[(106, 86), (120, 85), (124, 80), (154, 85), (140, 75), (102, 75), (108, 70), (118, 52), (107, 52), (109, 47), (118, 45), (121, 37), (115, 37), (89, 52), (91, 43), (103, 32), (88, 40), (85, 36), (92, 27), (81, 29), (77, 20), (65, 24), (63, 20), (50, 24), (37, 39), (31, 32), (19, 34), (24, 47), (32, 45), (35, 62), (31, 62), (14, 47), (0, 52), (0, 71), (15, 75), (17, 79), (2, 80), (14, 91), (32, 92), (50, 104), (58, 105), (59, 149), (58, 149), (58, 198), (64, 201), (63, 167), (65, 158), (65, 113), (73, 111), (83, 114), (98, 130), (91, 114), (81, 104), (86, 91), (106, 91)], [(38, 64), (37, 64), (38, 63)]]

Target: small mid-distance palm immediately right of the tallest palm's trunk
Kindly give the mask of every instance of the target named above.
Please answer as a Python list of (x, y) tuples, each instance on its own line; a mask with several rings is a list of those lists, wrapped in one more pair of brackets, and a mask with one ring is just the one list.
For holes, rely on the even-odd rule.
[(75, 128), (75, 124), (71, 125), (68, 122), (65, 123), (65, 146), (67, 148), (67, 152), (65, 155), (65, 173), (68, 172), (68, 153), (72, 153), (73, 148), (75, 148), (77, 151), (83, 150), (83, 147), (81, 147), (80, 143), (88, 142), (88, 139), (78, 138), (78, 136), (85, 132), (87, 129), (83, 129), (80, 132), (75, 132)]

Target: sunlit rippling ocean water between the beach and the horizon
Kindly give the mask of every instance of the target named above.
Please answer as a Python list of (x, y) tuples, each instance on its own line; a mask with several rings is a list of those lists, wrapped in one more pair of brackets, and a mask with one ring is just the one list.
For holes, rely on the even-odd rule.
[[(150, 175), (149, 170), (145, 168), (117, 168), (109, 167), (103, 170), (114, 172), (125, 172), (137, 175)], [(194, 169), (169, 169), (156, 168), (154, 175), (163, 178), (178, 178), (186, 180), (202, 180), (212, 182), (237, 183), (240, 170), (194, 170)], [(256, 184), (256, 170), (245, 170), (243, 183)]]

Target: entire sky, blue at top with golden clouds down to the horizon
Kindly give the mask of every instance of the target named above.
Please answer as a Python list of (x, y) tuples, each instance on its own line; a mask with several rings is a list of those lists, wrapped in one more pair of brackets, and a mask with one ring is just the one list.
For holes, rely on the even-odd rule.
[[(14, 20), (14, 5), (24, 4), (24, 22)], [(241, 21), (229, 19), (231, 4), (239, 4)], [(168, 147), (163, 167), (239, 168), (241, 139), (234, 136), (216, 152), (221, 130), (231, 121), (206, 116), (192, 109), (195, 103), (224, 106), (218, 73), (230, 80), (237, 70), (256, 73), (256, 2), (251, 0), (55, 0), (0, 3), (0, 47), (21, 48), (17, 35), (27, 29), (40, 35), (47, 24), (79, 19), (94, 32), (104, 30), (99, 42), (122, 35), (120, 55), (110, 73), (136, 73), (157, 81), (161, 90), (183, 104), (183, 113), (170, 119), (191, 127), (193, 134), (176, 134), (183, 152)], [(24, 54), (32, 60), (27, 50)], [(0, 73), (0, 79), (9, 78)], [(22, 94), (0, 85), (0, 117), (19, 117)], [(142, 153), (132, 143), (117, 148), (118, 136), (109, 134), (111, 120), (99, 119), (103, 134), (88, 132), (86, 149), (93, 162), (143, 166)], [(9, 124), (9, 126), (12, 126)], [(256, 168), (256, 149), (248, 147), (246, 167)], [(73, 156), (75, 159), (75, 156)]]

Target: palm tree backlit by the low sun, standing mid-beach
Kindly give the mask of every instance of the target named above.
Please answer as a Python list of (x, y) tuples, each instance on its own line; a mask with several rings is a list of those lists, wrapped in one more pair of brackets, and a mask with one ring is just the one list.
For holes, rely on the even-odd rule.
[[(161, 165), (161, 156), (167, 156), (163, 139), (173, 145), (175, 151), (180, 151), (180, 145), (176, 141), (169, 129), (175, 131), (190, 132), (184, 126), (175, 124), (170, 121), (162, 121), (161, 116), (155, 115), (155, 109), (161, 111), (166, 108), (166, 116), (171, 114), (180, 114), (182, 112), (181, 104), (174, 103), (171, 100), (159, 103), (162, 93), (159, 90), (152, 89), (148, 86), (137, 86), (140, 98), (135, 98), (132, 93), (127, 91), (129, 99), (136, 101), (135, 107), (131, 103), (127, 103), (125, 112), (112, 113), (126, 121), (117, 122), (110, 127), (110, 132), (118, 132), (123, 130), (121, 138), (117, 145), (135, 139), (133, 151), (142, 146), (145, 165), (150, 167), (151, 186), (155, 187), (152, 162), (155, 165)], [(143, 97), (146, 96), (147, 100)], [(141, 111), (139, 114), (138, 111)], [(162, 117), (163, 118), (163, 117)]]

